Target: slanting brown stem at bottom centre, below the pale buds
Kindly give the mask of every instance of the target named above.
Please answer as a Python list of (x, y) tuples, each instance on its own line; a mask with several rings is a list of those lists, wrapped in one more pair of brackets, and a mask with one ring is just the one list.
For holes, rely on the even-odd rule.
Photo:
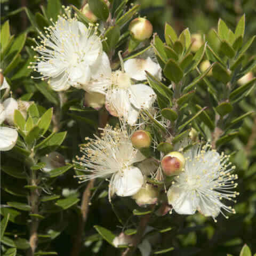
[(141, 239), (143, 238), (143, 234), (150, 220), (151, 214), (147, 214), (140, 219), (139, 227), (137, 229), (137, 233), (133, 238), (132, 246), (128, 247), (123, 253), (122, 256), (130, 256), (137, 249), (137, 246), (140, 244)]

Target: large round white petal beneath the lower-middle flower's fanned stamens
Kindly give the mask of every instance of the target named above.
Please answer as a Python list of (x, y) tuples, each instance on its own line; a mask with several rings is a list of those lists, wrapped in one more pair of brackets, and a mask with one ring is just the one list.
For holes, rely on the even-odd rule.
[(123, 173), (114, 174), (113, 186), (118, 196), (132, 196), (143, 185), (143, 175), (139, 168), (130, 166)]

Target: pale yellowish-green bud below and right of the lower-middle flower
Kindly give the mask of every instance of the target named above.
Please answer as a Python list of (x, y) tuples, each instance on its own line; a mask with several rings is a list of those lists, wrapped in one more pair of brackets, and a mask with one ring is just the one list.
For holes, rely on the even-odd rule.
[(139, 206), (145, 206), (147, 204), (155, 204), (157, 202), (157, 195), (157, 188), (147, 183), (132, 198)]

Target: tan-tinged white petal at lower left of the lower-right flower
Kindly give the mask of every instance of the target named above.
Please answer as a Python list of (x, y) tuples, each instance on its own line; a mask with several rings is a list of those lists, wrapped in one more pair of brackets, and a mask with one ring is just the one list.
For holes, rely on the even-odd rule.
[(167, 198), (168, 203), (179, 214), (194, 214), (199, 203), (199, 198), (193, 192), (176, 186), (169, 188)]

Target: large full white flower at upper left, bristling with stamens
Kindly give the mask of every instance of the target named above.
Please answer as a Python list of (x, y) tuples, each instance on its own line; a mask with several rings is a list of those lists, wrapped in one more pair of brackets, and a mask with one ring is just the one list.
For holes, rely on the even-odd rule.
[(50, 78), (49, 84), (55, 91), (70, 86), (82, 88), (95, 68), (101, 66), (102, 43), (93, 25), (87, 28), (76, 18), (59, 17), (45, 34), (40, 33), (39, 39), (40, 44), (33, 47), (39, 56), (32, 68), (41, 73), (42, 79)]

